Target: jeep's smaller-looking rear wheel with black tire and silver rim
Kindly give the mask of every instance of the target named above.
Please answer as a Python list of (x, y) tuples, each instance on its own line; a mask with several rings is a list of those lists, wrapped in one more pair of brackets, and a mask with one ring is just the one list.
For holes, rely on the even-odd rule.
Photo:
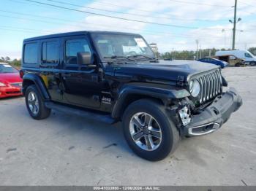
[(51, 110), (45, 107), (42, 96), (35, 85), (26, 88), (25, 100), (29, 114), (35, 120), (43, 120), (49, 117)]

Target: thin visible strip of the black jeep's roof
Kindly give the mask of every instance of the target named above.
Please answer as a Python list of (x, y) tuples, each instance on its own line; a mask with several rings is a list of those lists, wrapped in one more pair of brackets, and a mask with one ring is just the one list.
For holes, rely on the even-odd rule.
[(116, 31), (74, 31), (68, 33), (61, 33), (61, 34), (49, 34), (45, 36), (36, 36), (29, 39), (24, 39), (24, 42), (34, 41), (39, 39), (50, 39), (50, 38), (58, 38), (64, 36), (77, 36), (83, 34), (124, 34), (124, 35), (136, 35), (140, 36), (140, 34), (132, 34), (132, 33), (123, 33), (123, 32), (116, 32)]

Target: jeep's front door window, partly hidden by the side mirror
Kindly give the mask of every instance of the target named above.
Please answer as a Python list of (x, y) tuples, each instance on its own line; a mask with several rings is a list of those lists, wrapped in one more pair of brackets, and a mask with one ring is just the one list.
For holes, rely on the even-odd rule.
[(77, 64), (78, 52), (91, 52), (86, 39), (72, 39), (66, 41), (65, 61), (68, 64)]

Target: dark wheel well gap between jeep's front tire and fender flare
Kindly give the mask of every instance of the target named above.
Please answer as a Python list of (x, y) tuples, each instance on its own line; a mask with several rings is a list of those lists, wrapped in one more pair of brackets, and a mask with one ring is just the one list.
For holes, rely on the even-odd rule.
[(129, 106), (129, 104), (132, 104), (132, 102), (134, 101), (138, 101), (140, 99), (149, 99), (151, 101), (155, 101), (157, 102), (158, 104), (162, 104), (164, 105), (164, 102), (162, 101), (162, 99), (160, 98), (154, 98), (154, 97), (151, 97), (151, 96), (148, 96), (148, 95), (141, 95), (141, 94), (132, 94), (132, 95), (127, 95), (127, 97), (124, 99), (122, 105), (121, 105), (121, 108), (118, 109), (118, 118), (122, 118), (123, 117), (123, 114), (124, 114), (124, 111), (125, 109), (127, 109), (127, 107)]

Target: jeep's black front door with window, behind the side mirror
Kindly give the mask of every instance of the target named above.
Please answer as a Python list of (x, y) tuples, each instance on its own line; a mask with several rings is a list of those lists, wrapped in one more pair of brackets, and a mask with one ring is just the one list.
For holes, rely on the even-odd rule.
[(99, 108), (101, 84), (97, 69), (77, 63), (78, 52), (91, 52), (91, 44), (86, 35), (63, 39), (64, 70), (61, 73), (64, 86), (64, 98), (69, 104), (88, 108)]

